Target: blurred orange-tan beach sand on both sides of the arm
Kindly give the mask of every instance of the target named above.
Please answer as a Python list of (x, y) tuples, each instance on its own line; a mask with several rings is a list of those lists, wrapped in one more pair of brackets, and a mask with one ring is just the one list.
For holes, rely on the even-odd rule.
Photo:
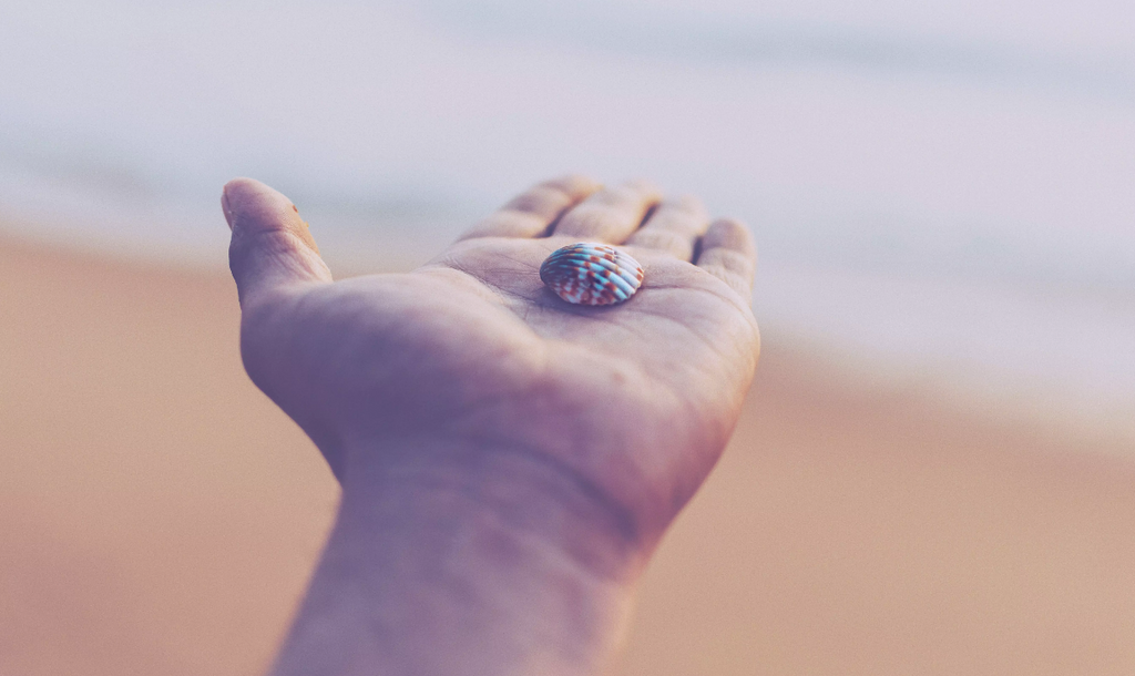
[[(337, 488), (237, 321), (221, 270), (0, 243), (0, 675), (264, 668)], [(619, 673), (1135, 673), (1135, 449), (832, 366), (766, 330)]]

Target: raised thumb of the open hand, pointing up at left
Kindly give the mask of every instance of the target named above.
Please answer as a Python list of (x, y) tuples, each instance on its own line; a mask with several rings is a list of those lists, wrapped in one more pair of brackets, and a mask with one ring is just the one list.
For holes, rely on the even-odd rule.
[(225, 185), (220, 204), (233, 230), (228, 265), (242, 304), (291, 285), (331, 281), (291, 200), (259, 180), (236, 178)]

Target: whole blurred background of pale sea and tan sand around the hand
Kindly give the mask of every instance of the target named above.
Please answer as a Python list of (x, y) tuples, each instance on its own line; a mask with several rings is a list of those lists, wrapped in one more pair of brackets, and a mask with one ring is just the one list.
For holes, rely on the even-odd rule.
[[(1104, 583), (1099, 575), (1135, 563), (1127, 549), (1116, 549), (1120, 533), (1130, 534), (1125, 519), (1133, 505), (1125, 500), (1135, 485), (1135, 5), (7, 0), (0, 8), (0, 244), (7, 252), (0, 337), (8, 347), (0, 422), (9, 430), (9, 498), (0, 525), (7, 524), (11, 544), (0, 569), (0, 603), (7, 593), (7, 606), (20, 610), (10, 610), (0, 625), (0, 673), (103, 673), (95, 665), (104, 659), (106, 673), (253, 674), (302, 589), (335, 489), (294, 429), (279, 432), (286, 439), (276, 443), (294, 447), (293, 465), (281, 465), (278, 448), (247, 432), (260, 429), (255, 424), (272, 430), (288, 423), (242, 380), (235, 361), (235, 301), (219, 272), (228, 231), (218, 201), (226, 180), (252, 176), (291, 196), (331, 269), (350, 274), (419, 264), (514, 193), (569, 171), (607, 181), (648, 177), (750, 223), (762, 259), (755, 309), (766, 337), (758, 388), (779, 402), (747, 414), (750, 422), (742, 422), (739, 434), (748, 433), (743, 438), (756, 450), (731, 451), (738, 459), (726, 460), (749, 463), (747, 470), (734, 467), (732, 488), (722, 483), (730, 479), (720, 479), (724, 471), (715, 475), (709, 497), (699, 498), (675, 531), (675, 544), (664, 548), (661, 572), (651, 573), (657, 582), (644, 592), (646, 619), (621, 668), (1135, 669), (1130, 649), (1123, 648), (1135, 645), (1128, 612), (1135, 593), (1127, 581)], [(90, 296), (76, 299), (81, 293)], [(110, 326), (109, 316), (119, 319)], [(210, 329), (209, 322), (220, 323)], [(137, 366), (140, 360), (149, 370)], [(209, 369), (216, 378), (202, 382), (203, 373), (213, 373)], [(175, 381), (179, 391), (196, 397), (190, 404), (168, 398), (160, 387), (176, 373), (186, 379)], [(764, 405), (760, 397), (750, 399), (750, 406)], [(215, 408), (221, 400), (230, 407)], [(260, 422), (232, 413), (237, 403), (255, 408)], [(151, 415), (142, 413), (145, 406), (167, 408)], [(192, 419), (194, 411), (200, 420)], [(918, 421), (923, 426), (903, 426)], [(178, 425), (187, 430), (183, 439), (217, 449), (208, 456), (215, 464), (191, 467), (192, 449), (173, 447), (163, 460), (138, 459)], [(872, 430), (884, 428), (905, 432), (881, 440)], [(226, 429), (244, 431), (217, 436)], [(153, 438), (138, 430), (151, 430)], [(841, 447), (841, 439), (854, 436), (848, 430), (867, 437)], [(928, 450), (928, 437), (949, 441)], [(263, 447), (262, 456), (249, 456), (261, 459), (234, 460), (228, 454), (236, 451), (222, 448), (234, 439)], [(107, 470), (116, 466), (106, 464), (107, 456), (87, 456), (87, 467), (68, 455), (76, 446), (100, 443), (117, 454), (119, 470)], [(868, 454), (877, 467), (866, 460), (858, 470), (839, 465), (856, 449), (884, 447), (901, 450), (885, 459)], [(808, 471), (800, 458), (810, 458)], [(257, 483), (263, 476), (253, 468), (257, 462), (276, 472), (268, 474), (276, 484)], [(876, 468), (864, 470), (868, 465)], [(901, 475), (894, 470), (900, 465), (918, 467), (918, 479)], [(91, 467), (110, 472), (119, 488), (89, 484)], [(958, 479), (961, 468), (969, 479)], [(233, 472), (246, 482), (232, 479)], [(309, 473), (318, 475), (310, 485)], [(934, 493), (931, 483), (942, 475), (956, 481)], [(775, 483), (777, 476), (784, 481)], [(834, 499), (824, 482), (840, 476), (861, 481), (840, 484), (851, 491), (840, 493), (850, 501), (824, 502)], [(1068, 476), (1078, 478), (1075, 488), (1059, 482)], [(1035, 504), (1007, 488), (1014, 481), (1024, 482), (1018, 489)], [(297, 485), (308, 487), (308, 498), (285, 492)], [(797, 492), (783, 492), (785, 485)], [(878, 502), (881, 485), (893, 488), (883, 492), (898, 501)], [(247, 490), (260, 497), (242, 492)], [(919, 512), (923, 498), (915, 493), (939, 495), (940, 508)], [(202, 495), (216, 505), (201, 506)], [(863, 510), (851, 507), (858, 502), (849, 495), (863, 500)], [(1113, 500), (1110, 508), (1092, 502), (1102, 495)], [(44, 507), (60, 499), (65, 507)], [(117, 506), (87, 510), (108, 500)], [(257, 500), (284, 512), (249, 512)], [(974, 507), (961, 521), (949, 521), (970, 500), (987, 510)], [(233, 526), (229, 540), (193, 540), (196, 559), (184, 552), (138, 558), (141, 550), (161, 550), (153, 544), (160, 536), (183, 543), (188, 538), (159, 504), (184, 518), (185, 529), (202, 533), (232, 525), (234, 510), (247, 523)], [(1032, 507), (1020, 507), (1026, 504)], [(801, 512), (801, 505), (815, 509)], [(1068, 516), (1073, 521), (1060, 522), (1066, 530), (1053, 525), (1054, 514), (1079, 508), (1088, 509), (1084, 523)], [(785, 541), (774, 536), (773, 522), (759, 519), (777, 509), (794, 518), (810, 514), (814, 530), (801, 526), (794, 540), (810, 543), (794, 550), (799, 561), (818, 556), (842, 563), (805, 565), (813, 575), (805, 580), (800, 567), (793, 572), (785, 563), (797, 559), (775, 558), (770, 550)], [(123, 525), (123, 514), (140, 512), (155, 516)], [(246, 544), (255, 524), (281, 513), (305, 524), (305, 539), (297, 544), (281, 530), (257, 550), (293, 552), (286, 572), (268, 576), (278, 588), (263, 583), (260, 615), (234, 619), (215, 599), (209, 603), (221, 605), (208, 608), (230, 622), (218, 625), (205, 607), (191, 620), (170, 610), (176, 603), (153, 600), (174, 584), (162, 572), (177, 561), (184, 568), (178, 571), (197, 581), (185, 583), (185, 602), (215, 594), (236, 603), (249, 580), (266, 580), (270, 557), (246, 554), (246, 568), (232, 561), (209, 568), (202, 561), (221, 559), (201, 552), (232, 556), (224, 554), (226, 542)], [(832, 517), (849, 513), (861, 521), (838, 532), (863, 558), (823, 550), (835, 536), (825, 530), (834, 527)], [(901, 527), (888, 521), (897, 513), (911, 515)], [(83, 540), (83, 532), (94, 531), (82, 514), (103, 514), (109, 530)], [(209, 527), (200, 525), (207, 514), (217, 519)], [(698, 540), (723, 523), (735, 529), (720, 541)], [(945, 560), (958, 547), (975, 547), (967, 533), (990, 523), (1004, 530), (987, 533), (983, 546), (997, 542), (1000, 554)], [(917, 556), (905, 549), (908, 535), (932, 526), (957, 540), (927, 544)], [(1087, 541), (1085, 529), (1103, 530)], [(116, 533), (125, 540), (114, 540)], [(1006, 542), (1018, 542), (1022, 533), (1042, 539), (1010, 552)], [(747, 544), (729, 549), (739, 538)], [(873, 542), (874, 549), (864, 544), (860, 551), (855, 542)], [(1101, 550), (1103, 543), (1111, 549)], [(729, 563), (721, 566), (733, 571), (717, 586), (715, 571), (723, 568), (706, 567), (693, 554), (705, 548), (725, 551)], [(1027, 576), (1014, 565), (999, 567), (998, 556), (1028, 566), (1037, 552), (1070, 558), (1045, 558), (1051, 565), (1034, 571), (1039, 586), (1014, 586), (1019, 607), (998, 595), (1009, 593), (1002, 582)], [(94, 619), (81, 622), (60, 599), (119, 589), (102, 577), (76, 577), (95, 559), (126, 591), (108, 592), (90, 610)], [(47, 560), (54, 563), (44, 567)], [(62, 569), (59, 560), (77, 563)], [(932, 584), (924, 575), (934, 565), (942, 567)], [(213, 576), (200, 573), (202, 567)], [(236, 568), (251, 577), (225, 572)], [(881, 569), (893, 574), (864, 573)], [(973, 591), (974, 571), (987, 574), (982, 593)], [(900, 573), (913, 586), (903, 588)], [(145, 593), (138, 591), (143, 578), (152, 584)], [(77, 586), (59, 592), (65, 582)], [(844, 599), (842, 610), (825, 606), (839, 597), (832, 590), (844, 585), (861, 594)], [(221, 594), (221, 588), (228, 591)], [(777, 597), (773, 589), (799, 594)], [(886, 590), (898, 589), (917, 593), (891, 599), (901, 610), (891, 601), (880, 605)], [(1039, 589), (1067, 595), (1045, 605), (1033, 595)], [(973, 605), (957, 607), (959, 590), (976, 594)], [(142, 600), (123, 600), (132, 594)], [(748, 600), (729, 611), (697, 606), (706, 599), (728, 606), (737, 598)], [(982, 606), (981, 599), (1000, 600)], [(254, 605), (245, 600), (237, 605)], [(1065, 601), (1079, 605), (1073, 611)], [(799, 624), (785, 619), (801, 607), (813, 610)], [(993, 615), (981, 615), (978, 607)], [(753, 615), (755, 608), (765, 615)], [(930, 617), (919, 608), (936, 610)], [(1039, 615), (1057, 624), (1042, 627)], [(703, 628), (713, 625), (706, 618), (718, 618), (720, 626), (698, 634), (688, 624), (657, 624), (663, 616), (700, 617), (695, 624)], [(973, 629), (975, 616), (1007, 633)], [(40, 624), (28, 625), (28, 617)], [(98, 619), (104, 617), (119, 619)], [(1073, 628), (1095, 620), (1104, 628), (1083, 635)], [(59, 633), (60, 623), (73, 633)], [(910, 629), (911, 623), (924, 631)], [(253, 625), (262, 627), (254, 636), (217, 628)], [(866, 633), (856, 634), (856, 626)], [(107, 627), (119, 627), (117, 639), (99, 633)], [(168, 631), (138, 640), (140, 627)], [(1111, 641), (1105, 645), (1099, 643), (1104, 634)], [(942, 643), (933, 636), (952, 637)], [(108, 644), (118, 648), (91, 648)], [(125, 648), (142, 644), (144, 659)], [(893, 659), (880, 657), (891, 648)], [(201, 662), (202, 652), (215, 661)], [(816, 657), (829, 653), (831, 661)], [(841, 661), (839, 654), (858, 657)], [(956, 661), (942, 662), (943, 654)], [(1088, 654), (1095, 670), (1074, 659)]]

